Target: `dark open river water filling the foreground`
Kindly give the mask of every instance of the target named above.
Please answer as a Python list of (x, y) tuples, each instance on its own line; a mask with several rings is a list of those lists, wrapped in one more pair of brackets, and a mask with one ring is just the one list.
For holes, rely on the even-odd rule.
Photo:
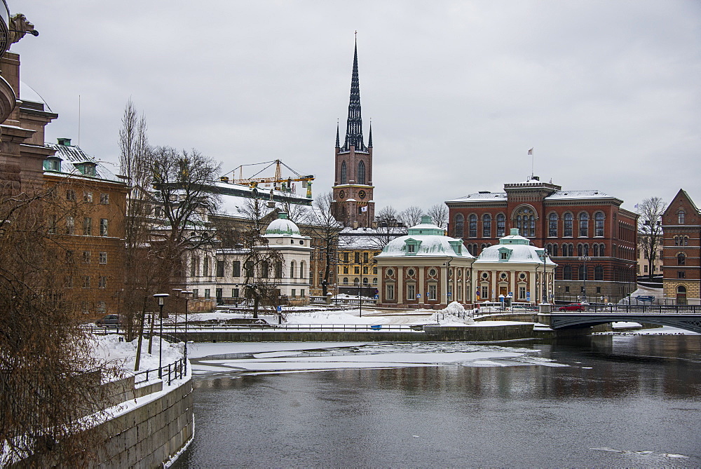
[(195, 381), (196, 439), (175, 467), (701, 466), (698, 335), (509, 348), (372, 344), (296, 356), (417, 350), (523, 356), (391, 369), (205, 372)]

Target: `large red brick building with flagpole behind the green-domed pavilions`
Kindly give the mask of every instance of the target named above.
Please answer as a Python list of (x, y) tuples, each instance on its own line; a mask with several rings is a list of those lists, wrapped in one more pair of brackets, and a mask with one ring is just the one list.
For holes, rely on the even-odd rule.
[(462, 238), (477, 256), (517, 228), (558, 264), (556, 300), (618, 301), (635, 290), (636, 278), (638, 215), (622, 203), (601, 191), (563, 191), (531, 177), (504, 184), (504, 192), (447, 200), (449, 236)]

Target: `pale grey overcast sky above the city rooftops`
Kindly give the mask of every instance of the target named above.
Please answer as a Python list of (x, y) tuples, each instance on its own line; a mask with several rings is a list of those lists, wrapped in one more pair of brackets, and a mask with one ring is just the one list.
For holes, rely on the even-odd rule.
[(701, 205), (700, 1), (8, 0), (40, 32), (12, 50), (72, 137), (117, 161), (127, 100), (152, 144), (222, 172), (275, 158), (333, 184), (358, 30), (378, 208), (563, 189)]

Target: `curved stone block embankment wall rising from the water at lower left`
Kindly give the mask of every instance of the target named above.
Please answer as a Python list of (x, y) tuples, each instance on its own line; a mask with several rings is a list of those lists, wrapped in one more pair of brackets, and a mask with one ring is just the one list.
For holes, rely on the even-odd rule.
[[(158, 392), (158, 387), (149, 386)], [(141, 394), (138, 389), (136, 395)], [(179, 386), (174, 383), (168, 393), (154, 396), (101, 427), (107, 433), (107, 441), (92, 467), (163, 467), (194, 434), (191, 380), (184, 380)]]

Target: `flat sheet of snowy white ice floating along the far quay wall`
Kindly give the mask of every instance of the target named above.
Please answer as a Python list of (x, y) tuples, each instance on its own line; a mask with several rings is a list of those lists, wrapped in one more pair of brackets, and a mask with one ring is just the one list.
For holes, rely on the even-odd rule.
[[(203, 344), (204, 345), (204, 344)], [(196, 375), (311, 372), (427, 366), (565, 367), (530, 348), (456, 342), (206, 344), (191, 358)]]

